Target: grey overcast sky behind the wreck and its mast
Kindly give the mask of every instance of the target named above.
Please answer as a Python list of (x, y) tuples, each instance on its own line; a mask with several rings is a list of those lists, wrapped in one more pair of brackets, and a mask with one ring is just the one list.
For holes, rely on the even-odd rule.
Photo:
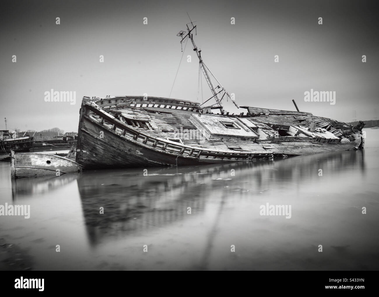
[[(12, 1), (0, 18), (0, 129), (78, 130), (83, 96), (168, 97), (189, 22), (202, 57), (241, 106), (353, 121), (378, 107), (379, 24), (374, 1)], [(60, 17), (60, 25), (56, 25)], [(147, 25), (143, 18), (147, 17)], [(235, 17), (235, 24), (230, 18)], [(318, 17), (323, 24), (318, 24)], [(16, 55), (17, 62), (12, 63)], [(104, 63), (99, 56), (104, 56)], [(187, 55), (192, 56), (191, 63)], [(274, 56), (279, 63), (274, 63)], [(366, 63), (362, 63), (366, 55)], [(199, 63), (190, 43), (171, 97), (197, 100)], [(304, 92), (336, 91), (336, 104)], [(77, 102), (45, 102), (45, 91)], [(203, 78), (204, 100), (211, 96)], [(200, 95), (200, 102), (202, 102)], [(213, 103), (213, 102), (212, 102)], [(236, 112), (231, 102), (227, 110)], [(246, 112), (245, 109), (238, 113)]]

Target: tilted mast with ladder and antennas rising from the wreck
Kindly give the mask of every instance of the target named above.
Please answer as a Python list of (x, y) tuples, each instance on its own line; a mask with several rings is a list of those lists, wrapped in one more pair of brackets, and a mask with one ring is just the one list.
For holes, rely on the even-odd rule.
[[(190, 19), (190, 20), (191, 20), (191, 19)], [(192, 25), (192, 28), (191, 28), (191, 29), (188, 27), (188, 24), (191, 24), (191, 25)], [(205, 66), (205, 64), (204, 64), (204, 62), (203, 62), (203, 58), (201, 57), (201, 49), (198, 49), (198, 48), (197, 48), (197, 46), (196, 46), (196, 44), (195, 44), (195, 41), (193, 40), (193, 33), (191, 33), (191, 32), (192, 32), (194, 29), (195, 29), (195, 31), (196, 31), (196, 26), (193, 24), (192, 21), (191, 21), (191, 23), (188, 23), (188, 24), (186, 24), (188, 33), (186, 33), (185, 31), (180, 31), (180, 32), (177, 34), (177, 36), (179, 36), (179, 37), (182, 38), (182, 40), (180, 41), (180, 44), (182, 44), (183, 40), (184, 40), (186, 37), (189, 37), (189, 39), (191, 39), (191, 42), (192, 42), (192, 45), (193, 45), (193, 50), (196, 52), (197, 58), (199, 58), (200, 68), (201, 68), (201, 70), (202, 70), (202, 72), (203, 72), (203, 74), (204, 74), (205, 80), (207, 81), (208, 86), (209, 86), (209, 88), (211, 89), (211, 92), (212, 92), (212, 94), (213, 94), (212, 97), (215, 98), (216, 103), (217, 103), (217, 105), (219, 106), (219, 109), (220, 109), (220, 111), (221, 111), (221, 114), (224, 114), (224, 113), (225, 113), (225, 110), (224, 110), (224, 107), (222, 107), (222, 105), (221, 105), (221, 100), (222, 100), (222, 98), (220, 99), (220, 97), (219, 97), (219, 93), (221, 93), (221, 91), (224, 91), (225, 94), (227, 94), (227, 96), (228, 96), (230, 99), (232, 99), (232, 98), (229, 96), (229, 93), (227, 93), (227, 91), (221, 86), (220, 83), (219, 83), (218, 86), (216, 86), (216, 88), (222, 88), (222, 90), (219, 91), (219, 92), (216, 92), (216, 90), (215, 90), (216, 88), (215, 88), (215, 86), (213, 85), (212, 80), (211, 80), (211, 78), (210, 78), (210, 76), (209, 76), (209, 74), (208, 74), (208, 71), (210, 72), (210, 70), (207, 68), (207, 66)], [(185, 34), (185, 33), (186, 33), (186, 34)], [(210, 72), (210, 73), (211, 73), (211, 72)], [(211, 74), (212, 74), (212, 73), (211, 73)], [(212, 74), (212, 75), (213, 75), (213, 74)], [(214, 75), (213, 75), (213, 77), (214, 77)], [(216, 77), (215, 77), (215, 79), (216, 79)], [(217, 79), (216, 79), (216, 81), (218, 82)], [(212, 97), (211, 97), (211, 98), (212, 98)], [(210, 99), (211, 99), (211, 98), (210, 98)], [(209, 99), (208, 99), (208, 100), (209, 100)], [(236, 107), (238, 107), (238, 105), (234, 102), (234, 100), (232, 100), (232, 102), (236, 105)], [(205, 102), (204, 102), (204, 103), (205, 103)]]

